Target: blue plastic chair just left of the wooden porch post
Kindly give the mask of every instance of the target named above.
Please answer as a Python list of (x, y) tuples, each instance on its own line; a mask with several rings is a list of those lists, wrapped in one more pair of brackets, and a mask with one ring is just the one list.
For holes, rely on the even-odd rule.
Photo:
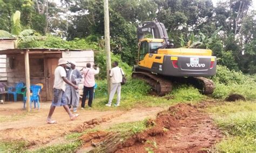
[(24, 100), (24, 97), (25, 97), (25, 94), (26, 94), (26, 89), (25, 89), (25, 91), (22, 91), (23, 88), (24, 88), (23, 82), (18, 82), (16, 84), (15, 88), (14, 87), (9, 87), (8, 92), (7, 92), (8, 101), (9, 101), (10, 94), (14, 95), (14, 101), (17, 101), (17, 94), (22, 94), (23, 95), (23, 100)]

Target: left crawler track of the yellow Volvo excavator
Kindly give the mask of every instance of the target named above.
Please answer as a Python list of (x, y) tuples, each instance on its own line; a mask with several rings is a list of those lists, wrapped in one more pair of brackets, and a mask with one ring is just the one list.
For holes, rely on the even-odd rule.
[(164, 96), (172, 91), (172, 82), (148, 72), (133, 72), (132, 78), (142, 79), (149, 84), (157, 95)]

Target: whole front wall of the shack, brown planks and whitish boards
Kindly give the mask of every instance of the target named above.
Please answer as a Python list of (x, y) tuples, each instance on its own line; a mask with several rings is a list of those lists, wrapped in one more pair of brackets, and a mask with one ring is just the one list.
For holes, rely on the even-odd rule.
[[(61, 55), (60, 55), (61, 56)], [(44, 85), (42, 90), (41, 98), (42, 101), (46, 101), (46, 79), (45, 79), (45, 58), (60, 58), (59, 55), (55, 54), (45, 54), (45, 55), (29, 55), (29, 65), (30, 65), (30, 84), (35, 85), (41, 83)], [(87, 62), (90, 62), (92, 65), (94, 63), (94, 53), (92, 50), (89, 51), (70, 51), (62, 52), (62, 58), (65, 58), (68, 61), (76, 61), (77, 68), (82, 69), (86, 66)], [(24, 54), (19, 55), (7, 55), (6, 58), (6, 76), (8, 86), (15, 86), (17, 82), (22, 81), (25, 83), (25, 62)], [(12, 68), (10, 67), (10, 63)], [(53, 87), (53, 85), (49, 85)], [(83, 81), (79, 84), (79, 93), (83, 94)], [(21, 100), (21, 99), (19, 99)]]

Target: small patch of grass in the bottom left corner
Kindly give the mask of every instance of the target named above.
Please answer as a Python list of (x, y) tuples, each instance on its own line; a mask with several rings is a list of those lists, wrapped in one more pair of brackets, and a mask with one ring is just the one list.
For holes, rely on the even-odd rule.
[(23, 140), (0, 142), (0, 152), (23, 152), (29, 143)]

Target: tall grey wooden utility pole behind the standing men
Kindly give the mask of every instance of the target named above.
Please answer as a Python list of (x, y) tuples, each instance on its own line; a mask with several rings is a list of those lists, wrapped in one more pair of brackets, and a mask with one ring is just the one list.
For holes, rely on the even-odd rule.
[(111, 80), (109, 71), (111, 69), (110, 58), (110, 34), (109, 34), (109, 0), (104, 0), (104, 27), (105, 27), (105, 51), (106, 51), (106, 73), (107, 73), (107, 92), (110, 93)]

